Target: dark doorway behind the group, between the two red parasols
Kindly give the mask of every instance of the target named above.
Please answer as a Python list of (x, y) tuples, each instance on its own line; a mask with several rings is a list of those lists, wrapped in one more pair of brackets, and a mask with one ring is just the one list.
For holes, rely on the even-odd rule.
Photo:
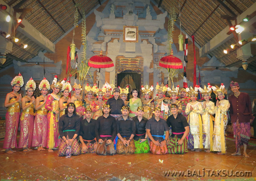
[(126, 70), (117, 74), (117, 86), (121, 88), (129, 85), (129, 94), (127, 95), (127, 100), (132, 98), (130, 92), (133, 88), (138, 89), (138, 97), (140, 97), (140, 87), (141, 87), (141, 74), (133, 72), (131, 70)]

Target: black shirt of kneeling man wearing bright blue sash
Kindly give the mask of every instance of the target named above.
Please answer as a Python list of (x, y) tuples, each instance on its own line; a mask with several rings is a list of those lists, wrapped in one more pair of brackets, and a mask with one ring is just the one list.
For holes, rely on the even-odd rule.
[[(163, 119), (160, 118), (157, 121), (155, 118), (151, 118), (146, 123), (146, 129), (150, 129), (150, 133), (153, 135), (164, 135), (164, 131), (168, 131), (169, 127)], [(164, 140), (162, 137), (154, 137), (155, 141), (159, 141), (160, 143)]]

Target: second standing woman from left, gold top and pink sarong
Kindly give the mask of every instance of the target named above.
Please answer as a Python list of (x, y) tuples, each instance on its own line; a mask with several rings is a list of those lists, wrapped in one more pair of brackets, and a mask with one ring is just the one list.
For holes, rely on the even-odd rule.
[(33, 128), (34, 128), (34, 108), (35, 98), (32, 96), (36, 88), (35, 81), (32, 77), (25, 86), (26, 96), (22, 98), (22, 116), (20, 116), (20, 138), (18, 147), (23, 148), (23, 151), (32, 151), (29, 149), (32, 146)]

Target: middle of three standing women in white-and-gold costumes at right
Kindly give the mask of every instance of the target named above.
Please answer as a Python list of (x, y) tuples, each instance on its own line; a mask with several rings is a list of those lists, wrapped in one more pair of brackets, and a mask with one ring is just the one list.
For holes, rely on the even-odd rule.
[(204, 86), (204, 89), (201, 87), (199, 88), (199, 91), (202, 93), (202, 96), (204, 98), (204, 102), (202, 103), (203, 107), (203, 114), (202, 114), (202, 131), (203, 131), (203, 145), (206, 150), (206, 152), (213, 151), (212, 147), (214, 146), (214, 140), (212, 139), (214, 126), (213, 122), (215, 120), (214, 115), (215, 114), (215, 104), (214, 102), (210, 101), (210, 95), (211, 95), (211, 85), (208, 83), (208, 87)]

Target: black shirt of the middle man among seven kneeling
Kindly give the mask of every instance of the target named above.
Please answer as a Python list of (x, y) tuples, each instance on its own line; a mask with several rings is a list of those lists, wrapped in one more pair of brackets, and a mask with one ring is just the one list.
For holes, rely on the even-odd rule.
[(135, 122), (131, 117), (127, 117), (126, 120), (123, 117), (118, 118), (116, 121), (116, 131), (121, 137), (131, 137), (132, 134), (136, 134)]

